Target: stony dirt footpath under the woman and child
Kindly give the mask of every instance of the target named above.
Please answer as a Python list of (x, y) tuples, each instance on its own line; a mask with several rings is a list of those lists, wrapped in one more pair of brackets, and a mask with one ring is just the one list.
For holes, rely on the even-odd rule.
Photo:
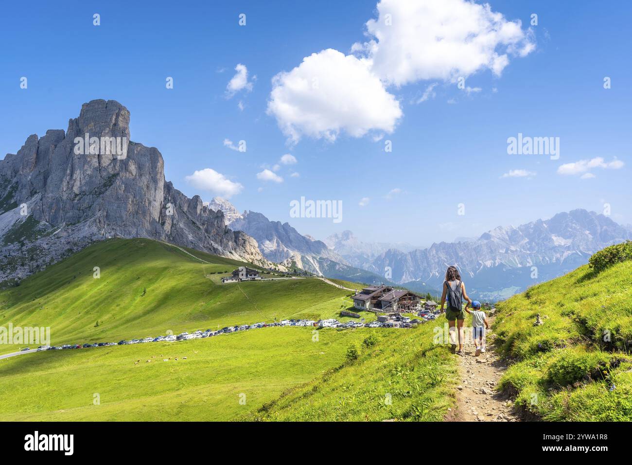
[(495, 391), (507, 366), (495, 353), (492, 333), (487, 335), (485, 353), (476, 357), (470, 338), (465, 341), (465, 356), (454, 356), (459, 359), (459, 385), (456, 407), (448, 412), (446, 421), (520, 421), (513, 402)]

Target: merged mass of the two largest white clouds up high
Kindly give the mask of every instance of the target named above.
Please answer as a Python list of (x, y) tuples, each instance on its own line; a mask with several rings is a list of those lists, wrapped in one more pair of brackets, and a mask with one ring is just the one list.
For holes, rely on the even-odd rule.
[[(289, 142), (303, 136), (333, 142), (341, 132), (373, 132), (380, 140), (403, 116), (389, 86), (454, 82), (483, 70), (499, 76), (510, 58), (535, 49), (533, 31), (519, 20), (468, 0), (381, 0), (365, 34), (367, 41), (353, 44), (350, 55), (322, 50), (272, 78), (267, 114)], [(434, 98), (435, 85), (416, 103)]]

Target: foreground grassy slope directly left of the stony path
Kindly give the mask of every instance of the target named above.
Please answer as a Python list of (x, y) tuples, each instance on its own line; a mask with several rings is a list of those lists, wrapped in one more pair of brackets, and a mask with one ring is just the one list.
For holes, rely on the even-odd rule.
[[(444, 319), (437, 320), (438, 325)], [(438, 326), (437, 325), (437, 326)], [(241, 419), (259, 421), (441, 421), (454, 403), (456, 356), (434, 345), (435, 325), (379, 330), (358, 357), (293, 387)]]

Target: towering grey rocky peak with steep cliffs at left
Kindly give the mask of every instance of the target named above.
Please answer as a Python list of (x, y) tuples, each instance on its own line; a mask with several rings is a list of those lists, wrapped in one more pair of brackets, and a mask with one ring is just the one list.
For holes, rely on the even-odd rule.
[(0, 282), (109, 237), (164, 240), (271, 266), (252, 237), (226, 227), (222, 211), (166, 182), (161, 153), (131, 142), (125, 106), (99, 99), (83, 104), (66, 132), (30, 135), (0, 161), (0, 258), (11, 256), (12, 264), (0, 270)]

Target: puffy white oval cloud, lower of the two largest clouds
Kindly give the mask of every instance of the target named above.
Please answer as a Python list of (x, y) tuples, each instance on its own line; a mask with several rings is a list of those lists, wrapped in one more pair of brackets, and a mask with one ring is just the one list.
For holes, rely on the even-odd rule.
[(391, 133), (402, 116), (367, 61), (334, 49), (313, 53), (272, 78), (267, 113), (291, 142), (303, 135), (334, 141), (341, 131), (353, 137)]

